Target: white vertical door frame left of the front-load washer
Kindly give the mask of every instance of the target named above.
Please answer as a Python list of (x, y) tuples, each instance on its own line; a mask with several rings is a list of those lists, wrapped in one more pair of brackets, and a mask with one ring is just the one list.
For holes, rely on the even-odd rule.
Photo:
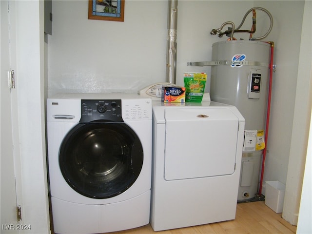
[[(16, 90), (22, 186), (22, 221), (29, 233), (49, 233), (49, 207), (44, 131), (43, 4), (16, 4)], [(27, 232), (27, 231), (26, 231)]]

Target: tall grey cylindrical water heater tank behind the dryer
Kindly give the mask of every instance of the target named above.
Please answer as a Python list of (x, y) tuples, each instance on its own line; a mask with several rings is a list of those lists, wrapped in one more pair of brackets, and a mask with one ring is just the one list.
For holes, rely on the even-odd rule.
[(253, 40), (212, 45), (211, 100), (234, 105), (245, 117), (238, 201), (254, 198), (265, 148), (270, 44)]

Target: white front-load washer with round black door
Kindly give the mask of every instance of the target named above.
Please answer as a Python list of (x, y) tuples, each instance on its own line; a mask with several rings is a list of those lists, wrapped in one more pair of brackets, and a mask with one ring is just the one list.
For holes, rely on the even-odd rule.
[(55, 233), (106, 233), (149, 223), (151, 99), (48, 98), (47, 143)]

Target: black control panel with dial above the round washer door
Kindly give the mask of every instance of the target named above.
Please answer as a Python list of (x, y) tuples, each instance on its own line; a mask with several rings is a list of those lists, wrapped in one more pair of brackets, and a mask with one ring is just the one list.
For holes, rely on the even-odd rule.
[(121, 99), (81, 99), (81, 118), (79, 122), (123, 122)]

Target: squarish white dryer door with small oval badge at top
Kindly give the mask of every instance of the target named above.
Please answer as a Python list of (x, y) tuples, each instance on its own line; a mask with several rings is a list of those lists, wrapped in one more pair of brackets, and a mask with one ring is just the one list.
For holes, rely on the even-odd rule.
[(231, 175), (238, 118), (226, 108), (166, 109), (165, 180)]

